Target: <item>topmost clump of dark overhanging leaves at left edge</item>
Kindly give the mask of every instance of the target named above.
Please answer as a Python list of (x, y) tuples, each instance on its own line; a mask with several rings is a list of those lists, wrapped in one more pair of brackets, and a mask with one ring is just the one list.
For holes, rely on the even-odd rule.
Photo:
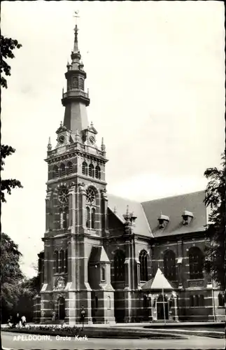
[(1, 86), (2, 87), (8, 87), (6, 78), (3, 77), (3, 73), (6, 76), (11, 75), (11, 67), (6, 62), (6, 59), (8, 58), (14, 58), (13, 50), (15, 48), (21, 48), (21, 44), (18, 43), (17, 40), (12, 38), (6, 38), (5, 36), (1, 35)]

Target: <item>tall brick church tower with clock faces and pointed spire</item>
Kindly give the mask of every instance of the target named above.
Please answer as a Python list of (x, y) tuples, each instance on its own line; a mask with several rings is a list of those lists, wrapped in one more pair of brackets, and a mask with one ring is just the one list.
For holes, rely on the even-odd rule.
[(56, 131), (54, 149), (49, 140), (45, 159), (48, 181), (40, 319), (80, 323), (84, 307), (85, 323), (112, 323), (114, 290), (103, 246), (108, 237), (108, 160), (104, 140), (97, 145), (97, 130), (88, 123), (90, 98), (85, 90), (77, 25), (74, 31), (66, 92), (62, 92), (64, 122)]

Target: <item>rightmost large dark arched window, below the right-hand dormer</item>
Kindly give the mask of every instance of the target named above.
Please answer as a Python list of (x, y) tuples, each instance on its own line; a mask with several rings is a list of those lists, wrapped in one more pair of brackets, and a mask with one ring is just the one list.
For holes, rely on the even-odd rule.
[(203, 279), (204, 255), (202, 251), (193, 246), (189, 250), (190, 279)]

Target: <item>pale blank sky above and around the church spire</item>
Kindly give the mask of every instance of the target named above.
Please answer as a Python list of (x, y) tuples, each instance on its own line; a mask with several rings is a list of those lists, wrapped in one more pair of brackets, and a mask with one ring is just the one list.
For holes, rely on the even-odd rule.
[(2, 90), (1, 143), (16, 149), (2, 178), (3, 232), (34, 275), (43, 249), (48, 137), (64, 118), (74, 11), (88, 118), (104, 137), (108, 193), (146, 201), (204, 190), (225, 139), (225, 14), (221, 1), (3, 1), (1, 34), (22, 43)]

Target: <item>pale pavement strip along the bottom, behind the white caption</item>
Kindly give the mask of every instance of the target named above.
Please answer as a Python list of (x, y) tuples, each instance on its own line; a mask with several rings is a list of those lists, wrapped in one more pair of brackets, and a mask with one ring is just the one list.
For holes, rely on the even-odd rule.
[[(87, 349), (225, 349), (225, 339), (190, 336), (189, 339), (60, 339), (48, 336), (46, 339), (26, 339), (25, 334), (1, 332), (3, 350), (87, 350)], [(32, 335), (27, 335), (31, 336)], [(24, 337), (24, 338), (23, 338)], [(46, 336), (45, 336), (46, 337)], [(65, 337), (64, 337), (65, 338)], [(69, 338), (69, 337), (68, 337)]]

